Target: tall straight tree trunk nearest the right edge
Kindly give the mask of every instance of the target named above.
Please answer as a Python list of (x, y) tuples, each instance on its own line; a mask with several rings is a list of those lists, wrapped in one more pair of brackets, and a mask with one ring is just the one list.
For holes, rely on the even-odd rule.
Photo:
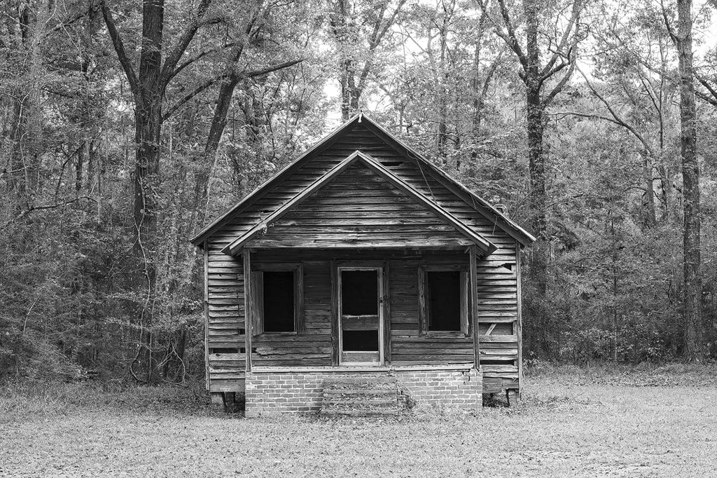
[(700, 169), (697, 161), (695, 86), (692, 55), (692, 0), (678, 0), (678, 32), (673, 34), (680, 67), (680, 127), (683, 180), (685, 274), (685, 359), (703, 359), (700, 256)]

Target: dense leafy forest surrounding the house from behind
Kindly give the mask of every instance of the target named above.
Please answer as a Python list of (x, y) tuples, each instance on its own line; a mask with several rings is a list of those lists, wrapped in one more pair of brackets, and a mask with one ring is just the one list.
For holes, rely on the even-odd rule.
[(6, 0), (0, 381), (204, 375), (195, 233), (358, 111), (537, 241), (523, 357), (717, 357), (715, 0)]

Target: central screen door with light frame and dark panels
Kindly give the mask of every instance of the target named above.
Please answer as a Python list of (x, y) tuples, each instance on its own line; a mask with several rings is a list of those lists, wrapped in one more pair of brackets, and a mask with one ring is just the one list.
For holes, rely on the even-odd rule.
[(341, 365), (384, 363), (380, 267), (338, 268), (338, 340)]

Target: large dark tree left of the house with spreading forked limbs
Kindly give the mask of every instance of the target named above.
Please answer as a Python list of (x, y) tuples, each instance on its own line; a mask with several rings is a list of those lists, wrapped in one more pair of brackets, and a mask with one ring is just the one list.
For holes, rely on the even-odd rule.
[[(162, 125), (173, 113), (184, 106), (188, 101), (199, 95), (214, 84), (220, 83), (219, 100), (214, 111), (212, 128), (204, 149), (204, 161), (209, 162), (214, 155), (219, 139), (222, 136), (226, 124), (227, 104), (232, 98), (237, 83), (244, 78), (252, 78), (259, 75), (280, 70), (284, 67), (295, 65), (299, 60), (280, 62), (278, 64), (262, 67), (259, 70), (247, 71), (239, 65), (239, 60), (246, 47), (256, 41), (262, 31), (261, 15), (265, 13), (262, 7), (257, 4), (252, 8), (244, 10), (246, 19), (244, 27), (241, 21), (233, 18), (237, 12), (228, 9), (227, 5), (217, 5), (212, 0), (200, 0), (196, 8), (193, 2), (189, 2), (189, 18), (186, 15), (176, 12), (180, 18), (179, 23), (169, 23), (165, 18), (165, 4), (163, 0), (144, 0), (142, 8), (142, 32), (141, 38), (133, 43), (141, 45), (140, 55), (136, 62), (125, 50), (125, 39), (118, 31), (113, 13), (106, 1), (101, 2), (103, 17), (107, 25), (108, 33), (113, 42), (115, 53), (120, 65), (122, 65), (125, 77), (130, 85), (133, 104), (135, 106), (135, 169), (133, 172), (134, 182), (134, 242), (138, 263), (141, 264), (139, 271), (141, 286), (146, 291), (141, 303), (138, 304), (137, 324), (143, 334), (140, 339), (137, 365), (140, 373), (146, 377), (145, 380), (153, 380), (153, 373), (156, 370), (153, 364), (152, 350), (153, 338), (151, 334), (153, 323), (153, 311), (157, 295), (157, 264), (156, 250), (160, 247), (158, 241), (158, 204), (161, 202), (161, 153), (162, 149)], [(239, 17), (241, 19), (242, 17)], [(188, 49), (202, 27), (224, 24), (226, 27), (237, 27), (229, 35), (219, 39), (211, 39), (205, 42), (208, 47), (202, 47), (193, 55), (184, 58)], [(174, 33), (174, 39), (167, 42), (165, 29)], [(218, 40), (218, 41), (217, 41)], [(171, 43), (170, 46), (167, 44)], [(219, 71), (211, 72), (207, 77), (195, 85), (194, 88), (180, 88), (184, 90), (174, 105), (164, 108), (169, 93), (173, 93), (171, 83), (176, 83), (181, 73), (197, 65), (205, 65), (209, 58), (218, 59), (217, 54), (226, 58), (225, 63), (219, 62)], [(206, 170), (206, 164), (205, 168)], [(201, 207), (201, 202), (206, 191), (206, 178), (197, 178), (196, 204), (194, 208)], [(200, 215), (203, 219), (204, 215)]]

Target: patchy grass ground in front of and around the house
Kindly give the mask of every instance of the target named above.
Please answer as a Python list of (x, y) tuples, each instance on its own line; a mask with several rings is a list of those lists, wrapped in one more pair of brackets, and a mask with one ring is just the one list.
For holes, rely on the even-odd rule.
[(683, 367), (536, 367), (519, 408), (402, 421), (243, 420), (182, 389), (6, 388), (0, 475), (710, 476), (715, 370)]

